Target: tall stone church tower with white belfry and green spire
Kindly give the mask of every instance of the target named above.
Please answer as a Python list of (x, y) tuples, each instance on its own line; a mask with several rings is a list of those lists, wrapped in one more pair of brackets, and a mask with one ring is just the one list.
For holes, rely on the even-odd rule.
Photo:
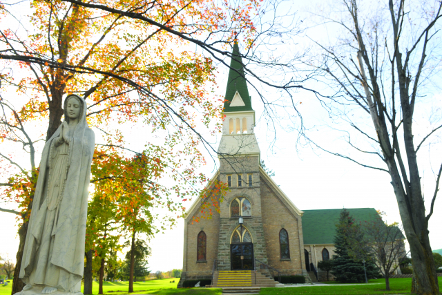
[(253, 128), (255, 111), (244, 76), (238, 44), (232, 59), (218, 147), (219, 179), (229, 191), (220, 204), (218, 269), (251, 270), (256, 259), (267, 263), (262, 226), (260, 149)]

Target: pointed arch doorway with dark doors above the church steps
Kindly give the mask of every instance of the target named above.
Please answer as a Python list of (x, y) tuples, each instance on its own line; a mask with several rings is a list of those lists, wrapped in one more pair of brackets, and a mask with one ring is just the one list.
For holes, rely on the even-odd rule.
[(249, 230), (240, 225), (231, 236), (230, 265), (231, 270), (254, 269), (253, 240)]

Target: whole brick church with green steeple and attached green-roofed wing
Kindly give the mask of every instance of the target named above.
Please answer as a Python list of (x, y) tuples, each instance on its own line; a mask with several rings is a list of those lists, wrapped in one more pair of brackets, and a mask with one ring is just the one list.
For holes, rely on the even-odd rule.
[[(271, 276), (302, 275), (309, 280), (326, 273), (314, 274), (318, 262), (332, 258), (334, 232), (341, 209), (305, 210), (273, 182), (260, 166), (260, 149), (253, 127), (255, 111), (244, 79), (238, 44), (233, 47), (224, 102), (222, 139), (218, 148), (220, 168), (207, 184), (220, 180), (230, 191), (220, 203), (220, 213), (211, 219), (201, 214), (202, 200), (196, 200), (186, 213), (184, 225), (184, 280), (211, 279), (212, 286), (226, 287), (229, 281), (240, 285), (271, 286)], [(234, 69), (234, 70), (233, 70)], [(349, 209), (358, 220), (378, 217), (373, 208)], [(251, 282), (249, 272), (259, 269), (258, 283)], [(236, 271), (236, 272), (232, 272)], [(267, 272), (267, 274), (266, 274)], [(238, 274), (242, 278), (227, 278)], [(267, 275), (267, 276), (266, 276)], [(233, 285), (232, 285), (233, 286)]]

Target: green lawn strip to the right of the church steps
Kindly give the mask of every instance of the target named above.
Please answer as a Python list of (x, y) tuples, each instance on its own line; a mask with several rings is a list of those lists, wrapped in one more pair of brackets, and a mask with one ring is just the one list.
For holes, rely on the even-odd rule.
[[(439, 286), (442, 286), (442, 277), (439, 277)], [(411, 278), (390, 278), (391, 291), (385, 291), (385, 280), (369, 280), (368, 283), (376, 285), (348, 285), (348, 286), (312, 286), (312, 287), (285, 287), (263, 288), (262, 295), (285, 295), (285, 294), (346, 294), (346, 295), (374, 295), (374, 294), (410, 294), (412, 285)], [(379, 284), (381, 283), (381, 284)]]

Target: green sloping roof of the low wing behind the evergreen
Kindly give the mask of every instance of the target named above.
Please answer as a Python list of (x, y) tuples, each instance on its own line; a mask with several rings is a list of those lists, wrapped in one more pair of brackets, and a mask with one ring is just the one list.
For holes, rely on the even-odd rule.
[[(374, 221), (379, 218), (374, 208), (347, 209), (350, 216), (358, 221)], [(336, 223), (342, 209), (302, 210), (302, 234), (304, 245), (334, 244)]]

